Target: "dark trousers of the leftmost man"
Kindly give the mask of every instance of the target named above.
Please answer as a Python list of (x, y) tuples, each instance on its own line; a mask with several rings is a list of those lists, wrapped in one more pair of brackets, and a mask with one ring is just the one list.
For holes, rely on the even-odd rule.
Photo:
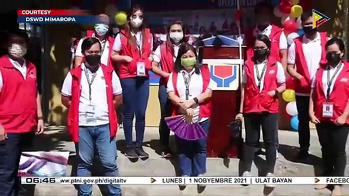
[(17, 177), (22, 150), (32, 145), (35, 132), (7, 134), (8, 139), (0, 144), (0, 195), (25, 195), (20, 178)]

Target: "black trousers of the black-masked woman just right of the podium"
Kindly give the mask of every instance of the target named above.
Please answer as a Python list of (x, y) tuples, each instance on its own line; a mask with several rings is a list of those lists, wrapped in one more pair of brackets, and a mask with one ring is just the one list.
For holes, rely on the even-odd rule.
[(266, 148), (266, 173), (274, 173), (276, 161), (276, 132), (278, 130), (278, 114), (245, 114), (245, 171), (251, 171), (255, 152), (259, 149), (260, 127)]

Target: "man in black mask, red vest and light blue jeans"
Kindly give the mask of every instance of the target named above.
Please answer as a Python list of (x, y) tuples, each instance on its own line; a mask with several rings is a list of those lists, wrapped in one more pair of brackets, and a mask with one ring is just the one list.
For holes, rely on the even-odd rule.
[[(122, 103), (119, 77), (101, 63), (101, 43), (86, 38), (81, 44), (84, 61), (71, 70), (62, 86), (62, 103), (68, 108), (68, 131), (77, 145), (77, 176), (91, 176), (95, 150), (105, 176), (119, 176), (115, 136), (118, 118), (115, 109)], [(119, 184), (108, 186), (109, 195), (121, 195)], [(79, 186), (79, 195), (91, 195), (92, 185)]]

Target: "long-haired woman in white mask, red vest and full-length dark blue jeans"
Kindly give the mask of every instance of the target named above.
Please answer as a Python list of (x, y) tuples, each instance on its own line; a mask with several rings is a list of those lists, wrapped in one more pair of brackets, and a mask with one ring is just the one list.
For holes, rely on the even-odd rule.
[[(126, 156), (148, 158), (142, 148), (146, 109), (149, 99), (149, 75), (152, 68), (153, 36), (143, 24), (143, 10), (134, 7), (128, 15), (129, 21), (115, 37), (112, 59), (120, 64), (119, 76), (124, 89), (124, 132)], [(133, 117), (136, 116), (136, 145), (132, 144)]]

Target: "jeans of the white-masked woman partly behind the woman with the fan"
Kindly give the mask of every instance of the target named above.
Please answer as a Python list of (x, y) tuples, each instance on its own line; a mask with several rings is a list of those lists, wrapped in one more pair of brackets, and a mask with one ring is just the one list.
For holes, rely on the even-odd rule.
[(159, 124), (159, 135), (162, 150), (169, 150), (169, 134), (170, 129), (168, 128), (165, 117), (171, 116), (171, 102), (167, 98), (167, 91), (165, 85), (159, 86), (159, 101), (161, 110), (161, 119)]

